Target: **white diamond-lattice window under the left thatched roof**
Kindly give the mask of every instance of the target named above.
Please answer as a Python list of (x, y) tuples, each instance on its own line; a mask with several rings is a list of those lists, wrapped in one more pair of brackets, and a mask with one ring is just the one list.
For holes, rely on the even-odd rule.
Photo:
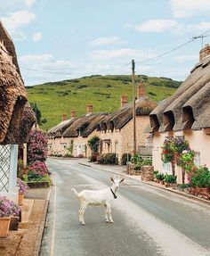
[(0, 192), (9, 192), (11, 145), (0, 145)]

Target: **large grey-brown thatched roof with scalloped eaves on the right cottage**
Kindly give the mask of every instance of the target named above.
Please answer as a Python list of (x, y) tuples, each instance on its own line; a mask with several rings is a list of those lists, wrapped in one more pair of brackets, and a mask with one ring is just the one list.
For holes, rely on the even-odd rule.
[(199, 62), (182, 86), (150, 113), (151, 132), (210, 127), (210, 55)]

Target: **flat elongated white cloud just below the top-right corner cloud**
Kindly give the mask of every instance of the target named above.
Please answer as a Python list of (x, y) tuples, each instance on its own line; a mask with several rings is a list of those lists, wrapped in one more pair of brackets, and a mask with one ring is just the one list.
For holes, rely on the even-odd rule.
[(139, 32), (164, 32), (169, 29), (173, 29), (178, 25), (174, 20), (149, 20), (144, 21), (141, 24), (128, 24), (128, 28), (133, 28)]

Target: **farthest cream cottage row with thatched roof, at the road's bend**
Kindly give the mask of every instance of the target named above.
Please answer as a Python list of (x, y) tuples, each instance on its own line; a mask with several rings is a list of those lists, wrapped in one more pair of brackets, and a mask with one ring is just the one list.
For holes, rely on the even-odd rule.
[(92, 103), (86, 106), (86, 114), (81, 117), (76, 117), (76, 111), (71, 111), (70, 120), (63, 115), (61, 123), (48, 131), (49, 154), (91, 156), (87, 141), (95, 135), (98, 123), (106, 116), (107, 113), (93, 113)]

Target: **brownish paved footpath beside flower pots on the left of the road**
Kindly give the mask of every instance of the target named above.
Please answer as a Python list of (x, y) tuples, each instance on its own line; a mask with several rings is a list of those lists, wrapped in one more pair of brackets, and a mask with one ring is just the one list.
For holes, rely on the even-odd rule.
[(37, 256), (39, 253), (51, 188), (28, 190), (23, 200), (18, 231), (0, 239), (0, 256)]

